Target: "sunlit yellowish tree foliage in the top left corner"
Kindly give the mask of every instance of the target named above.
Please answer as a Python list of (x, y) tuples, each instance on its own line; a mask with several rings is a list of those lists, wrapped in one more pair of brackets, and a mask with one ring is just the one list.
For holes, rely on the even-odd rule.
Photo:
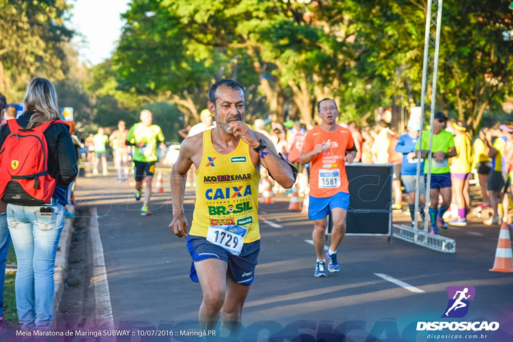
[(60, 81), (69, 69), (65, 0), (0, 1), (0, 92), (21, 102), (35, 76)]

